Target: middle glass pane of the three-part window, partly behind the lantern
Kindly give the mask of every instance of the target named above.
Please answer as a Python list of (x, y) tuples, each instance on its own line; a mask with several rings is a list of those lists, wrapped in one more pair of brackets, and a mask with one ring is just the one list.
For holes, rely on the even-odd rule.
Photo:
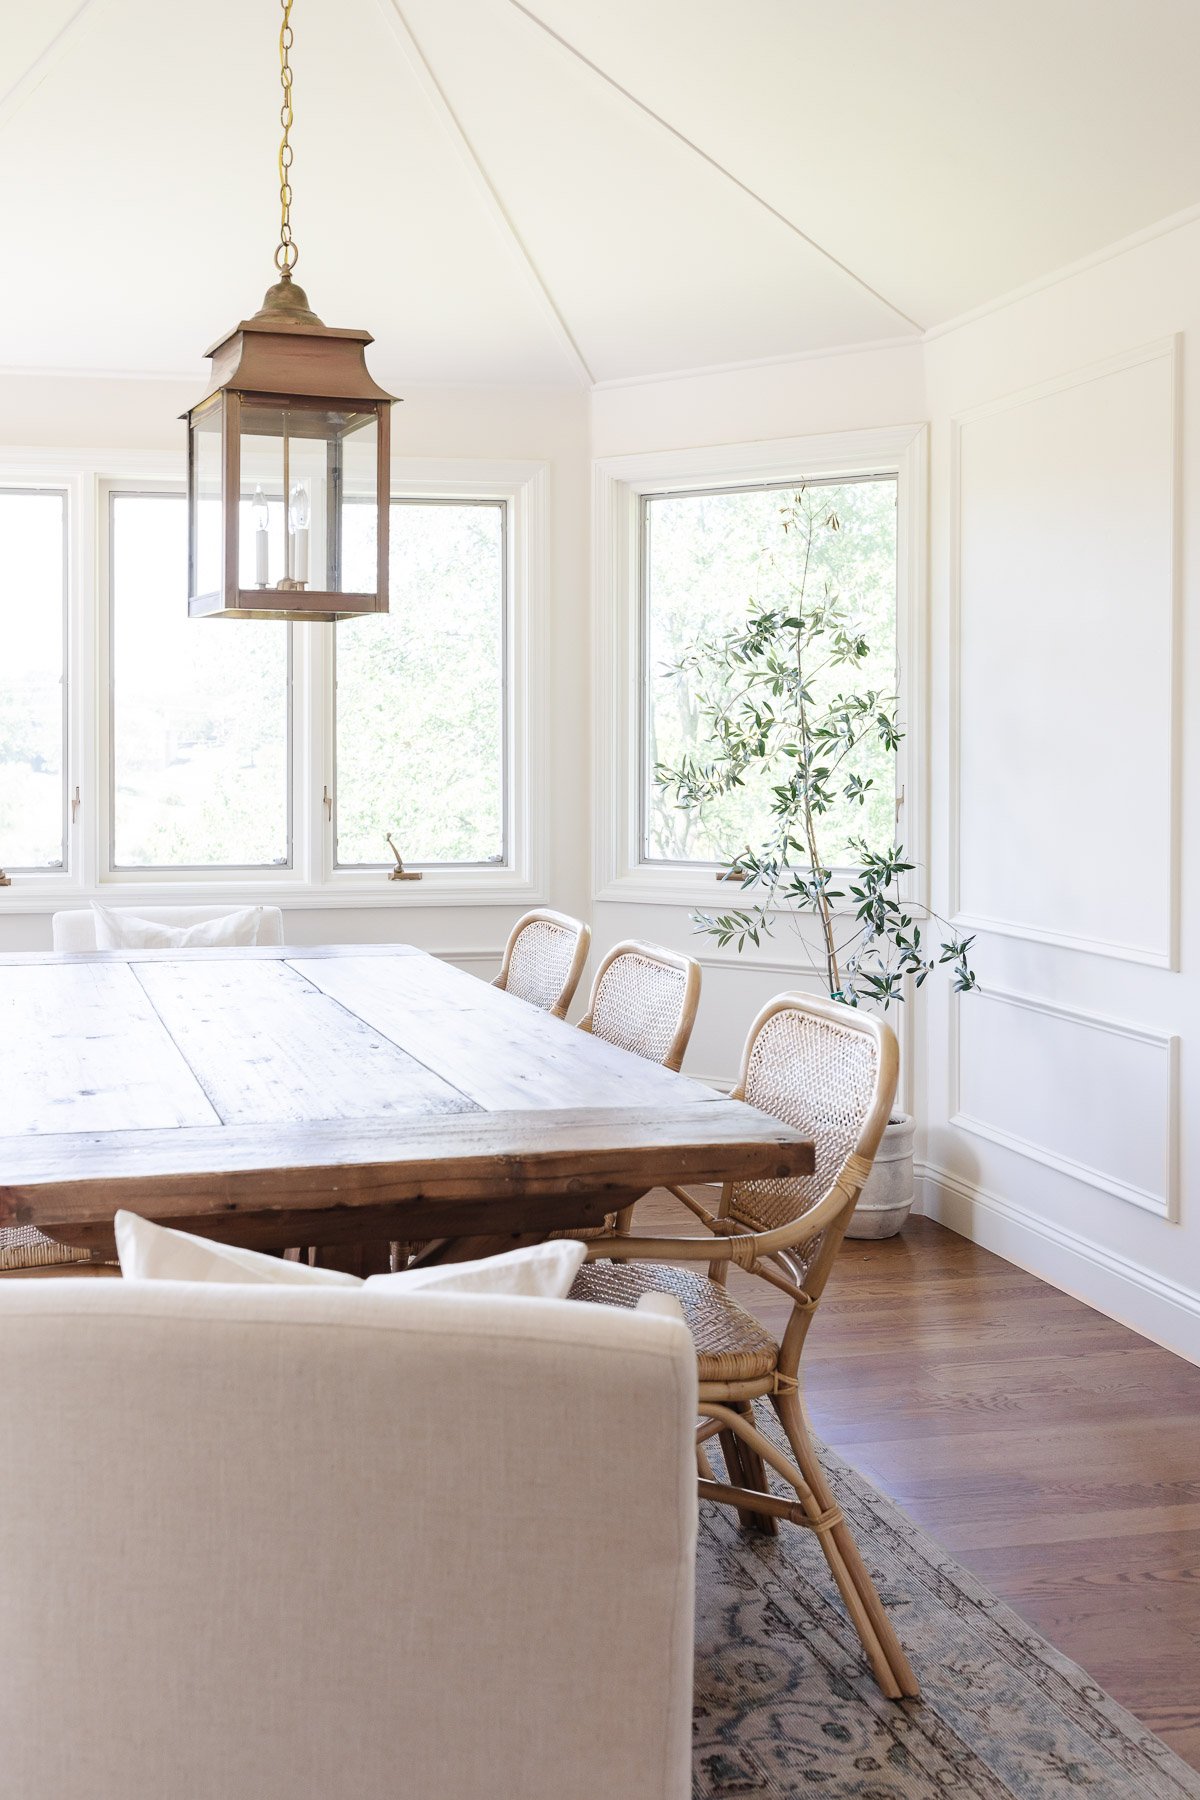
[(288, 628), (189, 619), (182, 495), (112, 493), (110, 558), (112, 868), (286, 866)]

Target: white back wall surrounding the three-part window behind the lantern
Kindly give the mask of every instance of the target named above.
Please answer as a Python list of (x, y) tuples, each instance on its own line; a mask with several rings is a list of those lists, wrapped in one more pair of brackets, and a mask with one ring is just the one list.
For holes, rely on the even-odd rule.
[[(198, 382), (0, 376), (0, 446), (178, 452), (180, 414), (203, 391)], [(588, 844), (588, 659), (587, 659), (587, 398), (558, 387), (408, 387), (396, 409), (396, 457), (542, 461), (549, 464), (551, 569), (549, 643), (549, 873), (545, 898), (587, 914)], [(300, 626), (304, 630), (304, 626)], [(317, 626), (320, 630), (320, 626)], [(380, 909), (286, 913), (293, 943), (380, 943), (405, 940), (453, 952), (462, 967), (486, 972), (513, 923), (511, 905), (430, 905), (419, 887), (380, 877)], [(49, 913), (5, 913), (0, 889), (0, 949), (49, 949)], [(286, 900), (282, 902), (286, 907)]]

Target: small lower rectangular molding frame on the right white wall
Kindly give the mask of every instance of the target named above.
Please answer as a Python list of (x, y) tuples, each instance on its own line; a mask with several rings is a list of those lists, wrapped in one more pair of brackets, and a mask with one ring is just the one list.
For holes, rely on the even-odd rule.
[(1031, 994), (1011, 994), (1004, 988), (981, 988), (972, 995), (970, 1004), (993, 1003), (999, 1006), (1016, 1006), (1024, 1012), (1040, 1013), (1049, 1019), (1061, 1019), (1067, 1024), (1079, 1026), (1088, 1031), (1103, 1031), (1110, 1037), (1126, 1039), (1137, 1044), (1148, 1044), (1151, 1049), (1162, 1055), (1162, 1076), (1166, 1084), (1164, 1102), (1166, 1102), (1166, 1143), (1162, 1145), (1162, 1192), (1155, 1193), (1151, 1188), (1141, 1188), (1133, 1183), (1121, 1181), (1117, 1175), (1103, 1168), (1096, 1168), (1088, 1163), (1076, 1161), (1070, 1156), (1052, 1150), (1049, 1145), (1034, 1143), (1018, 1132), (1006, 1130), (991, 1120), (975, 1118), (963, 1111), (963, 1031), (961, 1031), (961, 1013), (955, 1006), (952, 1012), (952, 1048), (950, 1048), (950, 1120), (948, 1123), (959, 1130), (970, 1132), (973, 1138), (984, 1138), (988, 1143), (999, 1145), (1002, 1150), (1013, 1150), (1016, 1156), (1025, 1156), (1034, 1163), (1042, 1163), (1045, 1168), (1052, 1168), (1060, 1175), (1069, 1175), (1072, 1181), (1081, 1181), (1090, 1188), (1099, 1188), (1103, 1193), (1112, 1193), (1117, 1201), (1126, 1201), (1130, 1206), (1137, 1206), (1142, 1211), (1155, 1213), (1155, 1217), (1175, 1222), (1178, 1219), (1178, 1037), (1169, 1031), (1157, 1031), (1150, 1026), (1128, 1024), (1123, 1019), (1112, 1019), (1105, 1013), (1081, 1012), (1074, 1006), (1060, 1006), (1052, 1001), (1038, 999)]

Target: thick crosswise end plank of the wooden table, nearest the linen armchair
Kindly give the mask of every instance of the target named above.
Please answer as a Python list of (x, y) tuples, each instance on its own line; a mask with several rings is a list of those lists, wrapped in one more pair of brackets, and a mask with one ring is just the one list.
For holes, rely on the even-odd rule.
[(279, 1130), (74, 1132), (0, 1139), (0, 1226), (38, 1224), (65, 1242), (101, 1242), (113, 1211), (130, 1206), (164, 1222), (207, 1217), (219, 1237), (239, 1220), (286, 1215), (282, 1242), (320, 1242), (318, 1215), (340, 1215), (335, 1237), (349, 1237), (347, 1219), (363, 1235), (376, 1228), (374, 1213), (389, 1210), (408, 1228), (419, 1222), (416, 1235), (441, 1237), (457, 1235), (452, 1222), (464, 1224), (471, 1206), (464, 1229), (480, 1217), (493, 1229), (520, 1229), (531, 1199), (549, 1202), (551, 1224), (581, 1224), (588, 1220), (572, 1215), (574, 1195), (587, 1197), (596, 1215), (613, 1197), (635, 1197), (664, 1179), (720, 1183), (811, 1168), (813, 1147), (799, 1132), (720, 1096), (676, 1107), (520, 1109)]

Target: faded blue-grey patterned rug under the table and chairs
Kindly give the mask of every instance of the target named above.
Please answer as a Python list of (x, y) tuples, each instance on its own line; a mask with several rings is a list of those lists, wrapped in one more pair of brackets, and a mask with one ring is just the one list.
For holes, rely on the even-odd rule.
[(824, 1465), (923, 1699), (874, 1687), (815, 1537), (752, 1535), (705, 1503), (694, 1800), (1200, 1800), (1200, 1775), (1083, 1669), (831, 1451)]

